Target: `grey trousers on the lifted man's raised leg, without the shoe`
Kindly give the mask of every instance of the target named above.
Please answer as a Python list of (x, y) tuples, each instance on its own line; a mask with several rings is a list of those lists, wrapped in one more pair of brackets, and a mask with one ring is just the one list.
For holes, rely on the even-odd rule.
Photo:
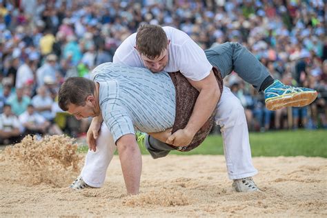
[(241, 79), (252, 84), (258, 91), (264, 80), (270, 76), (267, 68), (244, 46), (226, 42), (204, 51), (212, 66), (217, 67), (221, 77), (234, 70)]

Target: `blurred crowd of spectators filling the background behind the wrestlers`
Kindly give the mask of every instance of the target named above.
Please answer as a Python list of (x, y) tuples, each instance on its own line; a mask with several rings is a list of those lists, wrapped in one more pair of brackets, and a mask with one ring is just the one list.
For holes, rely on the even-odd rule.
[(90, 119), (58, 108), (59, 86), (112, 61), (141, 23), (179, 28), (203, 49), (239, 42), (275, 79), (319, 91), (310, 106), (272, 112), (232, 73), (225, 84), (250, 130), (326, 128), (326, 11), (323, 0), (0, 0), (0, 143), (31, 133), (85, 135)]

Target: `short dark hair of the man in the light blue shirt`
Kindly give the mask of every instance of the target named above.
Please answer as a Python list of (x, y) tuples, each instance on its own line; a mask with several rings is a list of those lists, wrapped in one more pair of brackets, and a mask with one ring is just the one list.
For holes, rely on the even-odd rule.
[(83, 77), (69, 77), (60, 87), (58, 104), (62, 110), (68, 110), (68, 105), (73, 103), (84, 106), (86, 98), (95, 92), (95, 82)]

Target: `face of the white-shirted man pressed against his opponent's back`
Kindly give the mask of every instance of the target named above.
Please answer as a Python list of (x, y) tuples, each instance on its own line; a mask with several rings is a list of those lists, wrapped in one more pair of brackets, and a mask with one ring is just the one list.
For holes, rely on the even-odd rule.
[(168, 50), (165, 48), (165, 50), (161, 52), (160, 56), (155, 57), (154, 59), (150, 59), (144, 54), (141, 54), (141, 59), (143, 60), (143, 63), (146, 68), (151, 70), (151, 72), (160, 72), (164, 70), (168, 63)]

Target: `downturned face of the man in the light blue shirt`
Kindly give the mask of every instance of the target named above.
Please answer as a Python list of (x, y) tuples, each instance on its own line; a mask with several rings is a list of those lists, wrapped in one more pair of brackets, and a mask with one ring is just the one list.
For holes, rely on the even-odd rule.
[(86, 117), (97, 117), (95, 106), (88, 100), (84, 106), (77, 106), (73, 103), (70, 103), (67, 111), (71, 115), (74, 115), (78, 120)]

